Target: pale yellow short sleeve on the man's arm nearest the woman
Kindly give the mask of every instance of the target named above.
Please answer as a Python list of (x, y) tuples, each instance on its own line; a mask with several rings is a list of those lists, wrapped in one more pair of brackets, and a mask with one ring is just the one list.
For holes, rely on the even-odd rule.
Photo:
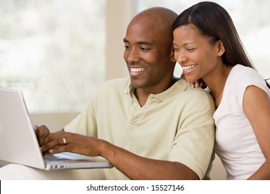
[(215, 108), (210, 97), (190, 101), (195, 104), (192, 104), (192, 107), (186, 107), (187, 112), (181, 114), (183, 122), (172, 145), (169, 160), (188, 166), (197, 173), (200, 179), (203, 179), (213, 154)]

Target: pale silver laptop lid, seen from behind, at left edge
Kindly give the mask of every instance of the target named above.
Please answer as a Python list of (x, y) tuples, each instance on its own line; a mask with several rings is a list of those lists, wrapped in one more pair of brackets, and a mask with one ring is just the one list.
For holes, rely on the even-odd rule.
[(15, 89), (0, 88), (0, 159), (45, 168), (24, 96)]

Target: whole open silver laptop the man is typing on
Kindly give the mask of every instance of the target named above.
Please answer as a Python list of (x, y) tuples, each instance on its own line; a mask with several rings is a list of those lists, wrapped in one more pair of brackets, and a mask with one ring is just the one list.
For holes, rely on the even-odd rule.
[(102, 157), (69, 152), (42, 157), (22, 92), (1, 87), (0, 160), (44, 170), (113, 167)]

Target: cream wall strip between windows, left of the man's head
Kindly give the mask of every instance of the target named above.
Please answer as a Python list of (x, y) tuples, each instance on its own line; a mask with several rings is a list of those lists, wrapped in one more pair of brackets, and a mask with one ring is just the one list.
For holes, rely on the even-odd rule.
[(107, 0), (106, 80), (128, 76), (123, 60), (125, 32), (136, 12), (135, 0)]

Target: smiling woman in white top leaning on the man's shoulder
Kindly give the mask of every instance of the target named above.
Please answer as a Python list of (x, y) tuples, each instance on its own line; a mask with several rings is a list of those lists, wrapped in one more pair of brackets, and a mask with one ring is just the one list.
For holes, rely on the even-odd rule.
[(202, 78), (215, 100), (215, 152), (227, 179), (270, 179), (270, 89), (230, 15), (217, 3), (197, 3), (173, 30), (174, 58), (187, 82)]

